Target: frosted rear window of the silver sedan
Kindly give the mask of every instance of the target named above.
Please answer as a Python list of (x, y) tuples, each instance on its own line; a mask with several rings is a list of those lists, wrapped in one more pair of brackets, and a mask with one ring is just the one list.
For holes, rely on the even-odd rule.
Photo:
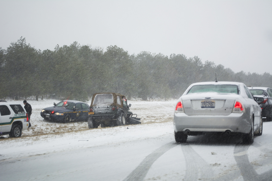
[(194, 85), (187, 94), (191, 93), (204, 93), (204, 92), (217, 92), (217, 93), (233, 93), (239, 94), (237, 85)]

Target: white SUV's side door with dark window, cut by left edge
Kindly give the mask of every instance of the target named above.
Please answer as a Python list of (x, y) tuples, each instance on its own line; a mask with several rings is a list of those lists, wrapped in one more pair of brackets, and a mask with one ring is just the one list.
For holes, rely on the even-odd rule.
[(6, 105), (0, 105), (0, 114), (1, 114), (1, 132), (10, 132), (12, 117), (11, 112)]

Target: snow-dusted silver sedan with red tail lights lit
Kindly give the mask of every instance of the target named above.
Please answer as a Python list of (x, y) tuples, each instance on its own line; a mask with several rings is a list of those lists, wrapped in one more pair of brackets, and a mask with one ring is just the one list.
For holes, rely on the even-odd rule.
[(253, 143), (254, 134), (262, 135), (261, 107), (248, 87), (239, 82), (200, 82), (190, 85), (179, 98), (174, 113), (176, 142), (188, 135), (241, 135)]

